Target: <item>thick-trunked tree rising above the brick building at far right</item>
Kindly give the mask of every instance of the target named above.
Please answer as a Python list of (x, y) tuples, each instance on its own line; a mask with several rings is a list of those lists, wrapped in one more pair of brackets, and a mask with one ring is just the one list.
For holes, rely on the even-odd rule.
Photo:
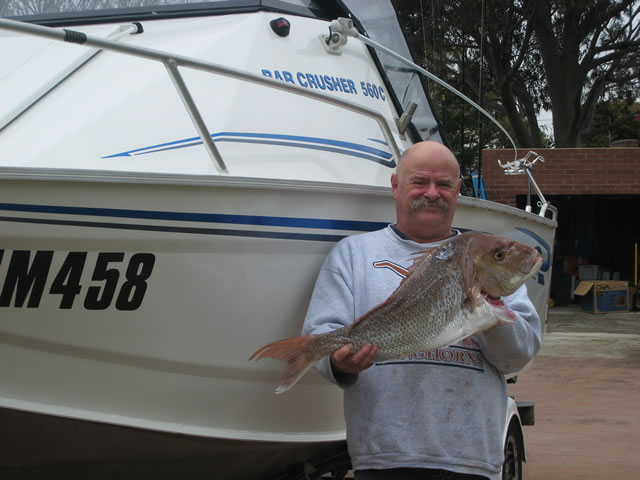
[(637, 96), (637, 0), (527, 0), (547, 79), (556, 146), (584, 145), (598, 101), (615, 88)]

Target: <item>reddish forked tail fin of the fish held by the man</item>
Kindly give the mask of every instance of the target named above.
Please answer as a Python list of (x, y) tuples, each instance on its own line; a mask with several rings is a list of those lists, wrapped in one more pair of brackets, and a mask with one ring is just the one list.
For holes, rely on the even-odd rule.
[(316, 362), (317, 359), (308, 349), (309, 343), (315, 337), (316, 335), (305, 335), (270, 343), (251, 355), (249, 360), (275, 358), (286, 362), (287, 366), (276, 388), (276, 393), (284, 393), (293, 387)]

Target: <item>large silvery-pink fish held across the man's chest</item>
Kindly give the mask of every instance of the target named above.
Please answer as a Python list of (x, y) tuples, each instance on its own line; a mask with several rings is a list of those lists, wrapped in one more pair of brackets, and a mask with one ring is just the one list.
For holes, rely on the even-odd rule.
[(534, 275), (537, 250), (507, 237), (467, 232), (416, 254), (407, 277), (393, 294), (354, 323), (319, 335), (265, 345), (250, 360), (287, 362), (276, 393), (295, 385), (313, 364), (343, 345), (353, 352), (378, 346), (375, 360), (431, 351), (498, 324), (515, 314), (500, 300)]

